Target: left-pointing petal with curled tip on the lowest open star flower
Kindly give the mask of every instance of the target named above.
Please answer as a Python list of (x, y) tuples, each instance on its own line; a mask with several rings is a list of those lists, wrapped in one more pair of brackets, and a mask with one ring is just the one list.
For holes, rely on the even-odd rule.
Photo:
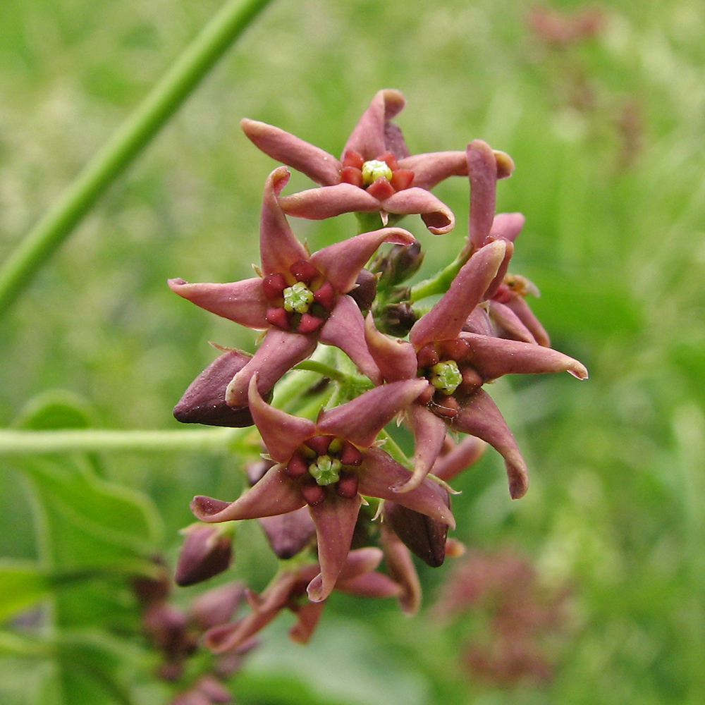
[(191, 511), (202, 522), (215, 524), (295, 512), (305, 503), (293, 480), (282, 472), (282, 466), (274, 465), (257, 484), (250, 487), (245, 494), (231, 502), (225, 509), (210, 514), (212, 503), (209, 498), (197, 496), (193, 498)]

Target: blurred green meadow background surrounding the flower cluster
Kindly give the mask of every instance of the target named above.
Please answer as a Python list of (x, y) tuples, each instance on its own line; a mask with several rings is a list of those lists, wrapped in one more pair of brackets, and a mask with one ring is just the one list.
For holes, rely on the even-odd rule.
[[(218, 7), (0, 3), (0, 258)], [(479, 137), (515, 159), (498, 187), (498, 210), (527, 216), (512, 271), (537, 284), (532, 307), (553, 347), (591, 378), (491, 388), (532, 487), (510, 501), (490, 450), (460, 479), (455, 535), (485, 556), (525, 556), (541, 590), (570, 592), (541, 640), (551, 676), (510, 687), (463, 665), (489, 638), (497, 600), (449, 626), (432, 611), (408, 620), (392, 604), (334, 596), (309, 646), (268, 633), (235, 683), (241, 701), (705, 701), (705, 13), (697, 0), (591, 7), (594, 31), (570, 39), (558, 30), (588, 9), (570, 1), (275, 1), (1, 321), (3, 426), (61, 388), (88, 400), (99, 427), (176, 429), (171, 408), (214, 357), (207, 341), (254, 350), (251, 331), (166, 287), (172, 276), (244, 278), (259, 259), (275, 164), (240, 118), (338, 154), (376, 90), (395, 87), (412, 153)], [(290, 190), (306, 186), (294, 176)], [(427, 250), (421, 276), (465, 235), (467, 182), (435, 192), (458, 227), (436, 238), (403, 221)], [(318, 249), (352, 234), (354, 219), (293, 227)], [(228, 497), (240, 484), (232, 458), (101, 460), (107, 479), (152, 497), (171, 551), (192, 494)], [(23, 481), (8, 466), (0, 482), (0, 556), (33, 558)], [(262, 580), (273, 563), (250, 538), (238, 570)], [(429, 606), (449, 563), (422, 570)]]

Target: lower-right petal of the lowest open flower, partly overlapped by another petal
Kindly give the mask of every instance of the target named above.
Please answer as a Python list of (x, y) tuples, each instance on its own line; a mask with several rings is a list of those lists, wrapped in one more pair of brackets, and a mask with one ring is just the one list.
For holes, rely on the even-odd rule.
[(455, 519), (446, 505), (447, 492), (439, 484), (424, 479), (416, 489), (399, 494), (394, 488), (403, 485), (411, 473), (381, 448), (368, 448), (363, 453), (364, 461), (357, 471), (360, 494), (388, 499), (455, 528)]

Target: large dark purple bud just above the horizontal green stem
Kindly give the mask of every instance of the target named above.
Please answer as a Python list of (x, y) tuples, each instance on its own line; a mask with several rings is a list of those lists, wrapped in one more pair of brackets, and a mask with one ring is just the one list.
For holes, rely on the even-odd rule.
[(240, 350), (227, 350), (209, 364), (189, 385), (174, 407), (174, 417), (183, 424), (206, 424), (242, 428), (252, 426), (249, 407), (233, 409), (225, 402), (231, 379), (252, 358)]

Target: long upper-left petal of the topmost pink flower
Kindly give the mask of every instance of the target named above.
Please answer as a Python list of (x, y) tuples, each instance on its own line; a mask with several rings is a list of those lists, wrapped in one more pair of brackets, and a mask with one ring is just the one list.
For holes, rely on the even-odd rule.
[(257, 120), (243, 118), (240, 127), (264, 154), (304, 173), (317, 184), (329, 186), (341, 180), (340, 161), (324, 149)]

